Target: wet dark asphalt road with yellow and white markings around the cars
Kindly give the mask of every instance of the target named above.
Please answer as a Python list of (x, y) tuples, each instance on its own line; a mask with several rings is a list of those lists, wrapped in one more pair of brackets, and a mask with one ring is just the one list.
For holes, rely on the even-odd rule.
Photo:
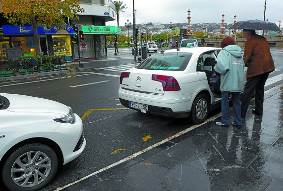
[[(275, 52), (273, 56), (277, 71), (269, 78), (281, 75), (283, 70), (282, 52)], [(158, 117), (122, 107), (118, 100), (121, 71), (111, 67), (123, 65), (120, 70), (125, 70), (126, 64), (132, 64), (132, 59), (89, 62), (85, 66), (94, 69), (0, 82), (3, 93), (55, 100), (72, 107), (83, 117), (85, 151), (59, 169), (55, 179), (43, 190), (53, 190), (87, 176), (191, 126), (187, 119)], [(279, 83), (282, 81), (266, 88)], [(213, 113), (219, 112), (220, 109)]]

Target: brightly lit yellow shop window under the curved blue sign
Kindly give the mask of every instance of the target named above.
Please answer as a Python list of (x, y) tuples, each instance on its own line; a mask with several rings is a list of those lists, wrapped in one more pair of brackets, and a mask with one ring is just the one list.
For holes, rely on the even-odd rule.
[(52, 35), (53, 54), (72, 56), (70, 35)]

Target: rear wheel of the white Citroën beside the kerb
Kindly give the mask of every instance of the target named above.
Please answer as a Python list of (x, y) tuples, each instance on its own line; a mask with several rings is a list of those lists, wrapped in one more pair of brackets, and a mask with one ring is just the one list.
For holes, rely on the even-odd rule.
[(190, 120), (194, 124), (200, 124), (205, 121), (209, 112), (209, 99), (207, 95), (200, 94), (196, 96), (192, 103)]

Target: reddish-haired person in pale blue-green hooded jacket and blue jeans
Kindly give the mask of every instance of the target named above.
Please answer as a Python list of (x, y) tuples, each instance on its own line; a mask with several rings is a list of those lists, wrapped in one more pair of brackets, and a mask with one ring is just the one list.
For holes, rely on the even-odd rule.
[(234, 120), (232, 125), (241, 128), (241, 98), (240, 93), (244, 89), (245, 63), (243, 60), (243, 51), (237, 45), (232, 37), (227, 36), (221, 41), (222, 50), (217, 56), (217, 64), (214, 69), (220, 73), (220, 91), (221, 91), (221, 110), (222, 117), (216, 125), (228, 127), (229, 119), (229, 97), (232, 95), (234, 110)]

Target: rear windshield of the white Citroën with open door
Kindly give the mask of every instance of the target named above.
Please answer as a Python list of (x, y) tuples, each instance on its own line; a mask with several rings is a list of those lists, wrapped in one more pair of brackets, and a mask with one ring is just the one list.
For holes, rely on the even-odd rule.
[(136, 66), (146, 70), (185, 70), (191, 53), (157, 53)]

